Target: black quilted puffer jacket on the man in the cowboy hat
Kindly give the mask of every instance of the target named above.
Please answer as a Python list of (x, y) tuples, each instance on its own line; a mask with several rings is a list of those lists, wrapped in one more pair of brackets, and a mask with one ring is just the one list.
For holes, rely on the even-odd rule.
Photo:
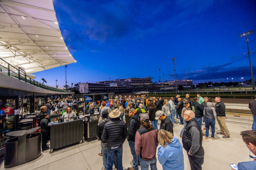
[(101, 140), (107, 140), (107, 147), (114, 149), (122, 145), (127, 137), (127, 127), (124, 121), (117, 118), (110, 118), (104, 126)]

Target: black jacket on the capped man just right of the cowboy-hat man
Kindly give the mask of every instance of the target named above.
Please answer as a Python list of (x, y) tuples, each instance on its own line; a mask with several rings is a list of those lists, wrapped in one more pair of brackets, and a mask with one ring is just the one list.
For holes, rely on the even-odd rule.
[(139, 122), (139, 117), (137, 114), (135, 114), (131, 119), (129, 120), (129, 125), (128, 125), (128, 136), (127, 140), (135, 142), (135, 135), (137, 130), (140, 128), (140, 122)]

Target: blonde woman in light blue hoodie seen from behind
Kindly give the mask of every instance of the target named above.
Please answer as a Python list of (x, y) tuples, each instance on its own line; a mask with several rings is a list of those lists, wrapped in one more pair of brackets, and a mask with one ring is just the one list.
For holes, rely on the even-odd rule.
[(184, 156), (179, 139), (173, 137), (170, 132), (160, 129), (158, 141), (161, 146), (158, 148), (157, 156), (163, 170), (184, 170)]

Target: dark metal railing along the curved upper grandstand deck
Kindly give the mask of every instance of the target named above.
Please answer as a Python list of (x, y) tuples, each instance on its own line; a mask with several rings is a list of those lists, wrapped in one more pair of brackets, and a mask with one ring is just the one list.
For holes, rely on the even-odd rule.
[[(1, 58), (0, 58), (1, 59)], [(4, 61), (3, 59), (1, 59), (2, 61)], [(50, 86), (45, 86), (44, 84), (35, 81), (34, 79), (31, 79), (30, 77), (27, 78), (26, 71), (24, 71), (22, 68), (19, 67), (19, 69), (15, 68), (14, 66), (12, 66), (11, 64), (9, 64), (8, 62), (4, 61), (5, 63), (7, 63), (8, 67), (4, 67), (3, 65), (0, 64), (0, 72), (7, 74), (9, 76), (12, 76), (16, 79), (19, 79), (21, 81), (24, 81), (28, 84), (34, 85), (36, 87), (42, 88), (42, 89), (46, 89), (46, 90), (51, 90), (51, 91), (57, 91), (57, 92), (68, 92), (70, 93), (70, 91), (66, 91), (66, 90), (61, 90), (61, 89), (56, 89)]]

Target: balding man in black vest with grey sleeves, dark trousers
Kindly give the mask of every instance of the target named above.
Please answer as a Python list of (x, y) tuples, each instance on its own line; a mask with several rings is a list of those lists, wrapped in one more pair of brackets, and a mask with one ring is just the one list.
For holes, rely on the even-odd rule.
[(187, 151), (191, 170), (202, 170), (204, 163), (204, 148), (202, 146), (203, 133), (201, 127), (195, 120), (195, 113), (191, 110), (184, 112), (185, 127), (182, 144)]

